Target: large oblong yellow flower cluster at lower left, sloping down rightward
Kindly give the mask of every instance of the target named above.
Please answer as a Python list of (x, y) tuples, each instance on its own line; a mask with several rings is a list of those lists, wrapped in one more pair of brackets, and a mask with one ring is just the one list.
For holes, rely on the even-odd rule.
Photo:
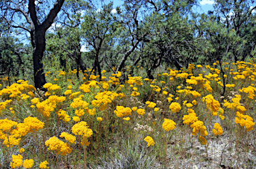
[(49, 146), (48, 150), (56, 151), (57, 154), (61, 154), (63, 156), (72, 152), (72, 148), (67, 143), (59, 140), (59, 138), (55, 136), (46, 140), (45, 145)]

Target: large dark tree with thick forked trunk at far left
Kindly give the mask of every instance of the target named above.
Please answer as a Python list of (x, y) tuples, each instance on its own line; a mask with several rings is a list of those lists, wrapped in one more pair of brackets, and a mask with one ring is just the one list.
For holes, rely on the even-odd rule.
[(54, 22), (65, 0), (4, 0), (0, 5), (0, 19), (8, 27), (29, 33), (33, 47), (33, 71), (36, 88), (46, 83), (43, 74), (45, 33)]

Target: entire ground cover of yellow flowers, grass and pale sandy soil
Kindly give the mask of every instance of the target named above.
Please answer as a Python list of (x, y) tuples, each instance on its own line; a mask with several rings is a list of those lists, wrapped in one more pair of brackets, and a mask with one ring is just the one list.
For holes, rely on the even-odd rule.
[(255, 67), (51, 70), (46, 92), (2, 77), (0, 168), (253, 168)]

